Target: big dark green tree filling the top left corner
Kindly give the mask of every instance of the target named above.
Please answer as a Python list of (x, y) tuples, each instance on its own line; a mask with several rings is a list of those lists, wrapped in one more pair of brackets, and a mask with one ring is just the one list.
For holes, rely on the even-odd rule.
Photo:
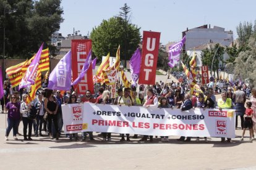
[[(6, 17), (4, 20), (4, 9)], [(15, 13), (11, 11), (15, 9)], [(42, 42), (50, 46), (51, 34), (63, 22), (61, 0), (0, 0), (0, 25), (6, 28), (6, 56), (29, 58), (38, 51)], [(3, 39), (3, 34), (0, 34)], [(3, 49), (0, 41), (0, 51)], [(53, 49), (51, 47), (50, 49)]]

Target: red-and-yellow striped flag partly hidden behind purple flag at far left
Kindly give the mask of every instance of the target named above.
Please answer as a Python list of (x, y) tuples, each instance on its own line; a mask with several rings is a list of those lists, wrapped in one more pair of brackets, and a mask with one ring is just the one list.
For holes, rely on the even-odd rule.
[[(30, 63), (34, 58), (35, 58), (35, 55), (30, 60), (26, 60), (25, 62), (19, 63), (17, 65), (14, 65), (6, 69), (6, 73), (10, 79), (10, 83), (12, 84), (12, 87), (18, 86), (20, 84), (20, 81), (22, 80), (23, 75), (25, 74), (28, 66), (30, 65)], [(41, 70), (41, 71), (49, 70), (49, 49), (48, 48), (44, 49), (41, 52), (38, 70)]]

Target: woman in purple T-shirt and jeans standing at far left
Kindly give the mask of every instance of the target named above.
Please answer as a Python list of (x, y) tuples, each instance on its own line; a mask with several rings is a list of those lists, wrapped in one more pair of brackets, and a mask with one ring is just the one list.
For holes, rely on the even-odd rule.
[(17, 102), (17, 98), (15, 95), (11, 96), (11, 102), (6, 104), (5, 110), (7, 111), (7, 123), (8, 126), (6, 128), (6, 140), (8, 136), (13, 131), (14, 140), (18, 140), (16, 137), (18, 125), (20, 123), (20, 102)]

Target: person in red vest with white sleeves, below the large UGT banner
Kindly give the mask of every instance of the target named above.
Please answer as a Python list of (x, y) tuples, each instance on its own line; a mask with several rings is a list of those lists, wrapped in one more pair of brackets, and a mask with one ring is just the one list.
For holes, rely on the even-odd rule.
[[(146, 102), (144, 103), (143, 107), (146, 108), (157, 108), (158, 107), (158, 99), (156, 95), (154, 94), (154, 91), (152, 88), (147, 89), (147, 97), (146, 97)], [(140, 139), (140, 142), (145, 142), (147, 141), (148, 136), (143, 136), (142, 139)], [(153, 142), (153, 136), (150, 136), (150, 142)]]

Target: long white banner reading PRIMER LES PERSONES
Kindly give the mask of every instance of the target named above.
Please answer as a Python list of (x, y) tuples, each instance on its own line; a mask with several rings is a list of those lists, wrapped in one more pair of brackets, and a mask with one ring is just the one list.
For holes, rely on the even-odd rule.
[(62, 105), (65, 133), (84, 131), (153, 136), (235, 137), (234, 110)]

